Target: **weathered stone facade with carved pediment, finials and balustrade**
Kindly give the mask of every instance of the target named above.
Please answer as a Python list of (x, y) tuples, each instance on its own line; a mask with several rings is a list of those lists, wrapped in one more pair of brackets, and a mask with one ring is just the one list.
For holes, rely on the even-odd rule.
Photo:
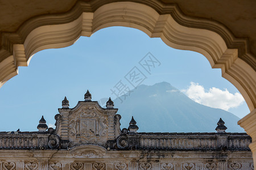
[(111, 99), (106, 108), (85, 100), (69, 108), (67, 97), (56, 114), (56, 129), (39, 121), (39, 131), (0, 133), (0, 169), (254, 169), (246, 133), (138, 133), (137, 122), (120, 129)]

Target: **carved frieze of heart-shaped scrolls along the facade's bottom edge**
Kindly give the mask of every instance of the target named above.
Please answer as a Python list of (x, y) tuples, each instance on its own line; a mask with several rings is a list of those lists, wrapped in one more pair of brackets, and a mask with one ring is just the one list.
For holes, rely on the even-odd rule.
[(161, 161), (160, 163), (151, 163), (151, 162), (79, 162), (75, 161), (72, 163), (64, 162), (49, 162), (42, 163), (37, 161), (28, 161), (28, 162), (1, 162), (1, 169), (4, 170), (39, 170), (39, 169), (50, 169), (50, 170), (253, 170), (254, 165), (250, 161), (246, 162), (196, 162), (196, 161), (184, 161), (183, 163), (179, 162), (170, 162), (170, 161)]

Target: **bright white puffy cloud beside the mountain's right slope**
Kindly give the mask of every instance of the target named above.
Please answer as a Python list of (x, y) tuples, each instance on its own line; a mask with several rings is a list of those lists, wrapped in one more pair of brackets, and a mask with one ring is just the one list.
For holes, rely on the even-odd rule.
[(182, 90), (190, 99), (197, 103), (207, 105), (212, 108), (220, 108), (228, 111), (230, 108), (236, 108), (245, 101), (241, 94), (231, 94), (227, 89), (220, 90), (212, 87), (208, 92), (205, 92), (203, 86), (199, 83), (191, 82), (187, 90)]

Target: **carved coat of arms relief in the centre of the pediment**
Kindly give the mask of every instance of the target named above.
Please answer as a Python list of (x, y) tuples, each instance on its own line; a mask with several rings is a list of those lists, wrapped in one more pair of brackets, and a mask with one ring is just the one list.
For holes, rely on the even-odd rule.
[(82, 107), (69, 115), (71, 146), (93, 144), (104, 146), (108, 141), (108, 115), (95, 107)]

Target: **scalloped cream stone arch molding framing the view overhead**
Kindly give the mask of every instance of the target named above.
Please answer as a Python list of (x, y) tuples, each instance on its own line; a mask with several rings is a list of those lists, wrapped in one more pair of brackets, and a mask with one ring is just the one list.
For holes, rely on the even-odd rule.
[(250, 110), (255, 109), (256, 61), (246, 50), (246, 40), (235, 39), (219, 23), (185, 16), (176, 5), (158, 1), (105, 3), (79, 1), (65, 14), (38, 16), (17, 32), (2, 33), (0, 87), (39, 50), (72, 45), (80, 36), (90, 36), (101, 28), (125, 26), (160, 37), (173, 48), (203, 54), (238, 88)]

